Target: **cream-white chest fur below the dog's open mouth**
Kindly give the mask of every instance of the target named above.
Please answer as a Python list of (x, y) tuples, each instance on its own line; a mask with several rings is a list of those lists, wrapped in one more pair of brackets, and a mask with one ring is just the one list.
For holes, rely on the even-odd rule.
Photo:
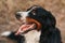
[(24, 34), (25, 43), (39, 43), (40, 31), (32, 30)]

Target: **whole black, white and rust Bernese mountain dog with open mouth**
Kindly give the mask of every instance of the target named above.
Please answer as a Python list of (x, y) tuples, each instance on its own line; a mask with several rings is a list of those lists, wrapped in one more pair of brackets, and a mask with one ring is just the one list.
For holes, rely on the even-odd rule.
[(62, 43), (55, 17), (46, 9), (32, 5), (25, 12), (16, 12), (15, 17), (22, 26), (14, 32), (1, 33), (2, 37), (16, 40), (17, 43)]

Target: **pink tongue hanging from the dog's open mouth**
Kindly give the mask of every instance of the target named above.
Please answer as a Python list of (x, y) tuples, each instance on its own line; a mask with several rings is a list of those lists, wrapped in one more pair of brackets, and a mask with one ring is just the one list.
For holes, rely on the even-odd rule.
[(20, 27), (20, 29), (16, 31), (16, 35), (20, 33), (25, 32), (26, 30), (32, 29), (35, 27), (35, 24), (28, 25), (28, 24), (24, 24)]

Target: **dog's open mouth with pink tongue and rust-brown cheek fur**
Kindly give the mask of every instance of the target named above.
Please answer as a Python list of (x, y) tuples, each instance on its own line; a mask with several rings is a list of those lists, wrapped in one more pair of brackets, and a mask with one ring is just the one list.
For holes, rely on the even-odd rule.
[(32, 18), (27, 18), (27, 23), (23, 24), (15, 34), (22, 34), (26, 31), (34, 30), (34, 29), (39, 30), (40, 27), (41, 27), (40, 23), (38, 23)]

